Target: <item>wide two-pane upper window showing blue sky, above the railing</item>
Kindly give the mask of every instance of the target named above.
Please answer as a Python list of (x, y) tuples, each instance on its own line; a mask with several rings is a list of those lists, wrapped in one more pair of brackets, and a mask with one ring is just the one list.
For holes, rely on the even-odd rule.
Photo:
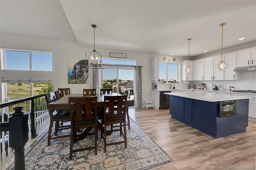
[(4, 49), (6, 70), (52, 71), (52, 53)]

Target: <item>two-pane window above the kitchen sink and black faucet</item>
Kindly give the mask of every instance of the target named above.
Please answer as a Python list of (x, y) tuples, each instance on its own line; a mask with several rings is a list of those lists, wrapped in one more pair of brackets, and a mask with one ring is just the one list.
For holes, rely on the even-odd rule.
[(178, 64), (172, 63), (159, 63), (159, 79), (164, 79), (166, 82), (170, 82), (170, 79), (179, 81)]

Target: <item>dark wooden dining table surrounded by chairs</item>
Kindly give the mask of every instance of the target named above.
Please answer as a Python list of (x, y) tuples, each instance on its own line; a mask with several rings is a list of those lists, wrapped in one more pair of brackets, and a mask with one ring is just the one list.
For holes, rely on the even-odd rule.
[[(69, 94), (61, 97), (60, 99), (57, 99), (55, 101), (52, 101), (49, 103), (48, 111), (50, 114), (53, 114), (55, 110), (61, 110), (61, 109), (69, 109), (69, 97), (91, 97), (91, 96), (97, 96), (97, 107), (98, 111), (97, 114), (102, 113), (103, 107), (104, 107), (104, 96), (122, 96), (122, 94), (119, 93), (110, 93), (110, 94), (93, 94), (93, 95), (84, 95), (84, 94)], [(132, 103), (131, 99), (127, 99), (126, 104), (129, 106)], [(128, 109), (127, 109), (128, 110)], [(98, 126), (100, 128), (100, 126)], [(88, 134), (92, 128), (86, 128), (84, 129), (81, 134)], [(101, 129), (100, 129), (101, 130)], [(79, 137), (78, 140), (83, 139), (85, 137)]]

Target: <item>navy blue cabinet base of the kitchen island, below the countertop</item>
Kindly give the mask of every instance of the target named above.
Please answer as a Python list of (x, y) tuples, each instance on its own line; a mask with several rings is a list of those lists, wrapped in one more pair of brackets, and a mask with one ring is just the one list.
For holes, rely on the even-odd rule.
[(236, 115), (218, 117), (220, 102), (208, 102), (185, 97), (170, 97), (170, 114), (190, 127), (214, 138), (246, 131), (248, 126), (248, 99), (237, 100)]

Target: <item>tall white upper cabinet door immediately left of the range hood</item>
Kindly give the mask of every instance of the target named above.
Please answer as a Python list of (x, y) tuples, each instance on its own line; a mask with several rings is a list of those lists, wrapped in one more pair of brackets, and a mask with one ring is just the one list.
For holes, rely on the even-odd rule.
[(224, 55), (224, 61), (228, 64), (228, 67), (224, 70), (225, 80), (237, 80), (236, 72), (236, 53), (228, 53)]

